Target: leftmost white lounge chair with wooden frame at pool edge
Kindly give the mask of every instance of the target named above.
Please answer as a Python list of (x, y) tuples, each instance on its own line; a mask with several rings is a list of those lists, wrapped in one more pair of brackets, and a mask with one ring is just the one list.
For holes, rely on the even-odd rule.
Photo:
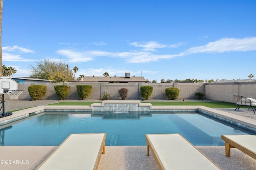
[(37, 169), (96, 170), (105, 153), (106, 133), (71, 134)]

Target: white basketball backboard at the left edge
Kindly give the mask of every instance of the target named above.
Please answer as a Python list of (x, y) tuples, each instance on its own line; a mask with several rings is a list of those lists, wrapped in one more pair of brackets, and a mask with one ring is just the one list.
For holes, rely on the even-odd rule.
[(6, 90), (14, 91), (17, 90), (18, 83), (12, 78), (0, 77), (0, 94), (6, 93)]

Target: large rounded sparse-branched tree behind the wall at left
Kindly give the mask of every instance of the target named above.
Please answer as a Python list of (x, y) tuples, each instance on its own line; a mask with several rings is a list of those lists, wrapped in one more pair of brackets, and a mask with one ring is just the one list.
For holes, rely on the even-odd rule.
[(56, 82), (67, 82), (72, 80), (73, 76), (69, 72), (69, 66), (61, 61), (44, 59), (36, 61), (36, 65), (30, 65), (30, 76), (39, 79), (47, 79)]

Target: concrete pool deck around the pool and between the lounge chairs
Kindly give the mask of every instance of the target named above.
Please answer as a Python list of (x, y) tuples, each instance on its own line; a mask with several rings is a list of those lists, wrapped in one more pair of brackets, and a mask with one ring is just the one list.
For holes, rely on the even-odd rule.
[[(30, 109), (14, 112), (13, 115), (1, 118), (0, 121), (8, 121), (8, 119), (26, 115), (28, 112), (32, 113), (42, 108), (82, 109), (88, 107), (89, 106), (37, 106)], [(241, 123), (248, 123), (248, 125), (256, 127), (256, 114), (254, 114), (251, 109), (239, 109), (234, 111), (234, 109), (229, 108), (214, 109), (202, 106), (155, 106), (152, 108), (158, 110), (184, 108), (195, 109), (199, 107), (201, 109), (206, 109), (208, 112), (214, 112), (218, 116), (226, 117), (230, 120), (238, 121)], [(208, 156), (213, 162), (219, 165), (223, 170), (256, 169), (256, 160), (244, 154), (238, 149), (231, 149), (231, 156), (228, 158), (225, 156), (224, 146), (196, 147), (198, 147), (198, 149), (206, 154), (206, 156)], [(0, 169), (35, 169), (55, 148), (56, 146), (0, 146), (0, 160), (3, 161), (0, 162)], [(10, 164), (6, 164), (6, 161), (8, 161), (8, 163), (10, 162)], [(158, 166), (151, 153), (150, 156), (146, 155), (146, 146), (106, 146), (106, 153), (101, 156), (98, 169), (156, 170), (158, 169)]]

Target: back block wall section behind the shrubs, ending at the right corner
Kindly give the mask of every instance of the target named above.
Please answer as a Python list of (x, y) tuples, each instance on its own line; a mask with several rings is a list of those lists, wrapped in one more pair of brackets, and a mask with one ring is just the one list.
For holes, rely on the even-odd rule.
[[(105, 83), (105, 82), (92, 82), (92, 83), (27, 83), (27, 84), (18, 84), (18, 90), (24, 90), (23, 93), (19, 96), (20, 100), (30, 100), (30, 96), (28, 93), (28, 86), (32, 85), (44, 85), (47, 86), (47, 91), (44, 99), (46, 100), (58, 100), (58, 96), (54, 90), (54, 86), (56, 85), (68, 85), (70, 86), (70, 91), (68, 95), (68, 100), (78, 100), (78, 92), (76, 90), (76, 85), (90, 85), (92, 86), (92, 92), (88, 99), (100, 100), (102, 99), (102, 93), (108, 92), (111, 95), (112, 100), (120, 100), (118, 97), (118, 89), (127, 88), (128, 96), (126, 100), (141, 100), (140, 94), (140, 86), (152, 86), (153, 92), (150, 96), (150, 99), (166, 99), (165, 89), (168, 87), (176, 87), (180, 89), (180, 95), (178, 99), (186, 99), (186, 98), (195, 98), (194, 94), (197, 91), (204, 92), (205, 85), (204, 84), (191, 84), (191, 83)], [(6, 95), (7, 96), (7, 95)], [(9, 98), (6, 97), (5, 100)]]

